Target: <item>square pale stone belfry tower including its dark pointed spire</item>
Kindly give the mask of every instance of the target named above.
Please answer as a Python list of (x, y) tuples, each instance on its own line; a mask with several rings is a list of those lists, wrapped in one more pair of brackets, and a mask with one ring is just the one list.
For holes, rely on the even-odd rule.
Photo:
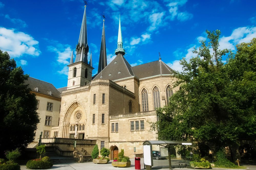
[(84, 6), (83, 21), (78, 44), (76, 46), (76, 59), (73, 62), (73, 51), (68, 65), (68, 89), (85, 86), (92, 81), (92, 61), (88, 64), (89, 46), (87, 42), (86, 6)]

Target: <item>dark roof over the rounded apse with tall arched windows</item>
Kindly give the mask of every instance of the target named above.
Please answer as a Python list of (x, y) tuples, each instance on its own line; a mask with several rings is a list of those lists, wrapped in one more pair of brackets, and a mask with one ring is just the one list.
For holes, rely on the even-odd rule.
[(143, 79), (155, 75), (173, 74), (173, 69), (171, 69), (162, 60), (133, 66), (132, 70), (138, 79)]

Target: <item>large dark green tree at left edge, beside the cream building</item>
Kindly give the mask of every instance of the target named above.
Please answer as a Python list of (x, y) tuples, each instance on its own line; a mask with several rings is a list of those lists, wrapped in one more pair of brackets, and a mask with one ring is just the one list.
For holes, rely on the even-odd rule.
[(4, 150), (24, 148), (34, 140), (39, 123), (36, 97), (30, 94), (21, 67), (0, 50), (0, 155)]

